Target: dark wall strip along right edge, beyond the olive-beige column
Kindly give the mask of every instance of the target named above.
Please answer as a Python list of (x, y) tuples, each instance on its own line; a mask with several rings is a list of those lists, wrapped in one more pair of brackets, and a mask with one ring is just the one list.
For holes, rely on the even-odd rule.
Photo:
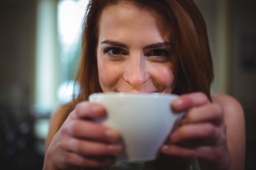
[(230, 94), (245, 110), (247, 170), (256, 168), (256, 1), (231, 4)]

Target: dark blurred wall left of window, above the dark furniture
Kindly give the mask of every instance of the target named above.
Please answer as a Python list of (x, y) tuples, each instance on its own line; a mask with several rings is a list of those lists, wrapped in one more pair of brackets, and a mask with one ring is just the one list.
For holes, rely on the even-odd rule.
[(35, 1), (0, 1), (0, 103), (17, 119), (34, 93)]

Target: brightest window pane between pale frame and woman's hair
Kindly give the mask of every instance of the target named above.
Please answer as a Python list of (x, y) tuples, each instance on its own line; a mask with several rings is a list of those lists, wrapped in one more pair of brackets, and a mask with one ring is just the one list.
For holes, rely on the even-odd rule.
[(72, 99), (74, 79), (81, 52), (81, 28), (88, 0), (60, 0), (57, 8), (61, 84), (57, 97), (61, 103)]

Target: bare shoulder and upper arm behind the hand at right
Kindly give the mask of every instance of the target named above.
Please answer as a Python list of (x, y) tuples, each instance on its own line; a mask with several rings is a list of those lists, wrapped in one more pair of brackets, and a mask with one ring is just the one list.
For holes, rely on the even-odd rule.
[(213, 103), (220, 104), (224, 110), (227, 124), (227, 144), (231, 165), (229, 170), (245, 169), (245, 117), (241, 104), (231, 96), (214, 93)]

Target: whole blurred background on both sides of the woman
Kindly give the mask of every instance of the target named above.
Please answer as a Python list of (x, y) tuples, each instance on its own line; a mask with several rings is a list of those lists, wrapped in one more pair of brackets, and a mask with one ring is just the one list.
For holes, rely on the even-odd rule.
[[(256, 0), (195, 0), (215, 80), (245, 110), (246, 170), (256, 169)], [(0, 0), (0, 169), (40, 170), (49, 116), (72, 97), (87, 0)]]

